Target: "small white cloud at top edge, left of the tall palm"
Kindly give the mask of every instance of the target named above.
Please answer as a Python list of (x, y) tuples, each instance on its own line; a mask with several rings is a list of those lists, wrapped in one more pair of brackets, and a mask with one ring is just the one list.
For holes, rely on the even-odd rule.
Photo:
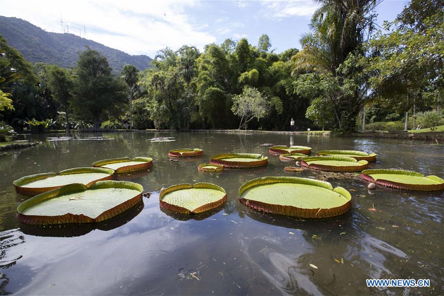
[(318, 8), (312, 0), (262, 1), (262, 14), (277, 21), (292, 16), (311, 16)]

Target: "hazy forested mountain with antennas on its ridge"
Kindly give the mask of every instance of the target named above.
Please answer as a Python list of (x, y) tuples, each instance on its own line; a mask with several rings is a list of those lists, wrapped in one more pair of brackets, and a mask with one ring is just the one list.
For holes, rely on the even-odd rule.
[(119, 73), (125, 64), (134, 65), (139, 70), (150, 67), (151, 58), (146, 55), (129, 55), (74, 34), (46, 32), (28, 21), (15, 17), (0, 16), (0, 34), (8, 40), (10, 46), (20, 51), (25, 59), (32, 63), (74, 67), (78, 53), (84, 51), (85, 46), (89, 46), (107, 57), (113, 73)]

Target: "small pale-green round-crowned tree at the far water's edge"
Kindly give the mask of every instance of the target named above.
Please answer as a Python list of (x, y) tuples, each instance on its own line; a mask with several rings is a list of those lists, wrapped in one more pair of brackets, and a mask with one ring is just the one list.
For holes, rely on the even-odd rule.
[(262, 95), (259, 90), (254, 87), (246, 86), (242, 94), (234, 96), (233, 106), (231, 110), (233, 113), (241, 117), (239, 128), (245, 127), (252, 119), (258, 120), (264, 117), (270, 108), (269, 99)]

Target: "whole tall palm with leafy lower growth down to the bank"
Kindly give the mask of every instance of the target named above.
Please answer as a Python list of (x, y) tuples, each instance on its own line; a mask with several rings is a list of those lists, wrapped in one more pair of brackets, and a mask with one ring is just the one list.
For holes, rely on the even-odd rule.
[[(338, 90), (323, 96), (329, 98), (335, 115), (336, 131), (352, 132), (356, 118), (369, 94), (368, 85), (360, 75), (362, 67), (350, 63), (363, 56), (363, 43), (373, 30), (376, 0), (319, 0), (321, 6), (312, 16), (311, 32), (300, 42), (303, 49), (293, 58), (293, 74), (316, 72), (326, 85)], [(352, 55), (350, 57), (350, 55)], [(347, 63), (347, 66), (343, 66)], [(341, 68), (342, 67), (342, 68)], [(353, 79), (357, 81), (353, 82)], [(299, 92), (295, 89), (296, 92)]]

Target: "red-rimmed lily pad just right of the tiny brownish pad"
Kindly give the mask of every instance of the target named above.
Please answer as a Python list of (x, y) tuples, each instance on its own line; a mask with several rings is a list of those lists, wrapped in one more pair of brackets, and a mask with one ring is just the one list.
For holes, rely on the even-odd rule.
[(308, 156), (301, 158), (304, 167), (331, 172), (357, 172), (367, 168), (367, 160), (356, 160), (345, 156)]

